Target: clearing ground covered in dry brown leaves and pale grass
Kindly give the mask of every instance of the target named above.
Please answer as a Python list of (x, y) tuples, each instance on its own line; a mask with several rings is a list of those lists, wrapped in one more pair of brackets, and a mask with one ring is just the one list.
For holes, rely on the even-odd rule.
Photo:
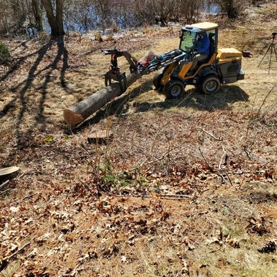
[[(20, 171), (0, 188), (0, 276), (277, 276), (277, 61), (258, 66), (274, 10), (206, 18), (221, 48), (253, 53), (244, 80), (166, 100), (146, 75), (74, 130), (62, 111), (104, 87), (100, 48), (164, 53), (179, 26), (3, 39), (0, 168)], [(88, 143), (98, 130), (107, 144)]]

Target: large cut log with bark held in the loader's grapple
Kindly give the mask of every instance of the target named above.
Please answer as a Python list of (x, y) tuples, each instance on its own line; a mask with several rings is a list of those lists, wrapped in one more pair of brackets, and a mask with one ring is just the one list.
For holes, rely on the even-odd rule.
[[(141, 78), (139, 71), (127, 73), (127, 87), (136, 82), (139, 78)], [(98, 111), (98, 109), (105, 106), (112, 99), (120, 96), (122, 93), (123, 91), (120, 89), (120, 84), (118, 82), (114, 82), (108, 87), (105, 87), (105, 89), (96, 91), (96, 93), (93, 93), (93, 95), (82, 100), (77, 105), (71, 106), (69, 109), (65, 109), (64, 120), (69, 127), (73, 128), (82, 123), (82, 121), (91, 116), (91, 114)]]

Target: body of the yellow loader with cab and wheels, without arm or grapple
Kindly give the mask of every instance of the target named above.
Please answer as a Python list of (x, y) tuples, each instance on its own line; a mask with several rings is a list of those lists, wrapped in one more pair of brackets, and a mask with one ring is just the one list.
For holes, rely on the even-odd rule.
[[(199, 34), (208, 35), (210, 55), (198, 62), (190, 71), (195, 59), (195, 44)], [(206, 94), (220, 89), (221, 84), (229, 84), (244, 79), (241, 69), (242, 53), (235, 48), (217, 48), (218, 26), (210, 22), (187, 25), (181, 28), (179, 51), (186, 53), (183, 60), (163, 68), (154, 78), (154, 87), (162, 90), (168, 98), (178, 98), (187, 84), (194, 84)]]

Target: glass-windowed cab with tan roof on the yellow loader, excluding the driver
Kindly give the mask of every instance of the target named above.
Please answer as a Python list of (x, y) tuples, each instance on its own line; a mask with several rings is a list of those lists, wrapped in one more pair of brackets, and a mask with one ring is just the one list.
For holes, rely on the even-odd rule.
[(199, 34), (208, 35), (210, 40), (210, 55), (204, 62), (213, 62), (215, 54), (217, 54), (218, 25), (211, 22), (203, 22), (199, 24), (186, 25), (181, 28), (179, 49), (188, 54), (195, 52), (195, 44)]

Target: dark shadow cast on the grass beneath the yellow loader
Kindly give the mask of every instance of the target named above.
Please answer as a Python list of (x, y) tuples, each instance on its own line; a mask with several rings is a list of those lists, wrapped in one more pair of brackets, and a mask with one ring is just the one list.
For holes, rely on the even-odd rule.
[(172, 107), (192, 107), (198, 110), (214, 111), (224, 109), (234, 102), (248, 101), (248, 94), (238, 86), (224, 86), (213, 95), (204, 95), (197, 89), (190, 89), (178, 99), (167, 99), (163, 102), (134, 102), (135, 112), (145, 112), (152, 109), (166, 110)]

